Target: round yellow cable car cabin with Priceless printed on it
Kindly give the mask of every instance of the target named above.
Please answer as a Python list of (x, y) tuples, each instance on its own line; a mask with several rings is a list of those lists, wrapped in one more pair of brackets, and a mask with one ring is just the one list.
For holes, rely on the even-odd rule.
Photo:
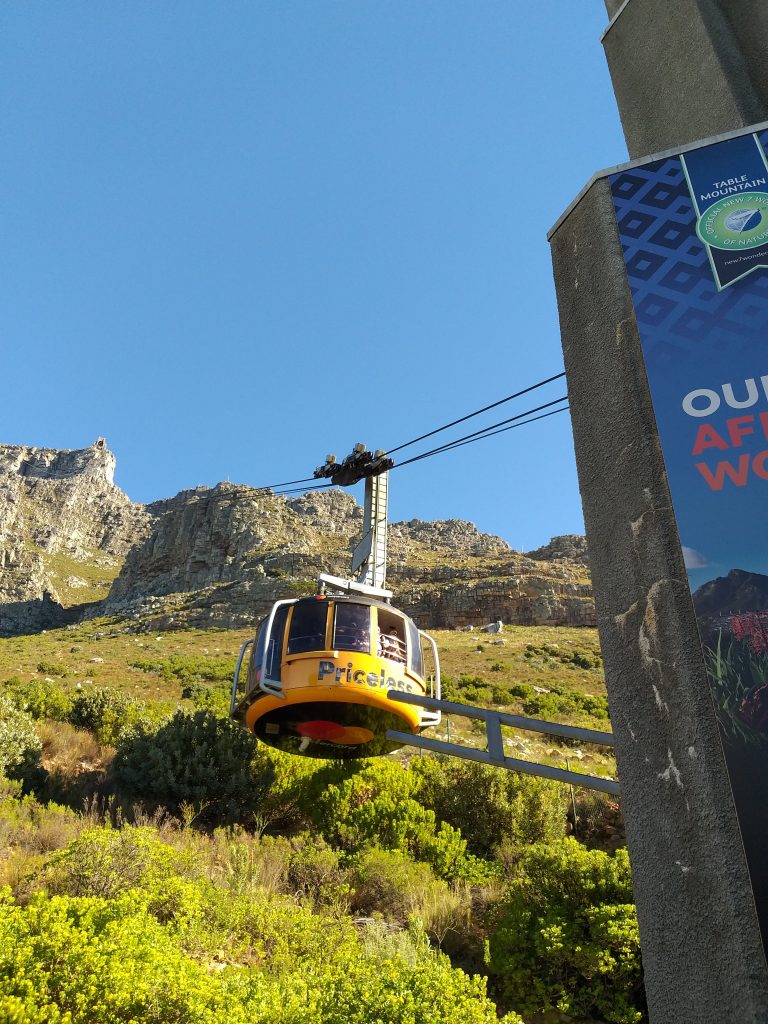
[[(434, 669), (429, 682), (426, 660)], [(292, 754), (369, 758), (400, 745), (387, 729), (418, 733), (439, 722), (439, 712), (388, 700), (389, 689), (439, 698), (434, 640), (384, 601), (317, 594), (278, 601), (243, 645), (231, 717)]]

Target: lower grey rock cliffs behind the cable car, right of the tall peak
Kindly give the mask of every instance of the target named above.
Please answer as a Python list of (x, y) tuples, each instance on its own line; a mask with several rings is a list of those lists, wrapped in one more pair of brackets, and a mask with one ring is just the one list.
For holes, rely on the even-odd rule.
[[(147, 506), (152, 532), (126, 559), (93, 613), (245, 626), (272, 601), (312, 593), (318, 572), (345, 575), (362, 512), (342, 490), (285, 500), (220, 483)], [(393, 523), (388, 585), (398, 607), (426, 628), (594, 625), (584, 567), (549, 565), (460, 520)]]

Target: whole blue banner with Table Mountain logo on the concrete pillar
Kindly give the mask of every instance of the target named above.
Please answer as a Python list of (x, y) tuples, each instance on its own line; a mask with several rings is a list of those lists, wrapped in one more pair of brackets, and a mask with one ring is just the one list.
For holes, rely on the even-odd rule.
[(768, 131), (610, 176), (768, 948)]

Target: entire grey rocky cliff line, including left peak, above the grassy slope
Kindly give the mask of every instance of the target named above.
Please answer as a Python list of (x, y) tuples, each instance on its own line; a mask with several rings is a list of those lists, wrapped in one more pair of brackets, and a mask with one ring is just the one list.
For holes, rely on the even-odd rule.
[[(220, 483), (144, 507), (114, 469), (101, 439), (0, 447), (0, 633), (103, 614), (146, 629), (244, 626), (311, 593), (318, 572), (348, 571), (362, 511), (346, 492), (286, 499)], [(468, 522), (394, 523), (388, 585), (425, 628), (594, 625), (578, 541), (553, 539), (547, 561)]]

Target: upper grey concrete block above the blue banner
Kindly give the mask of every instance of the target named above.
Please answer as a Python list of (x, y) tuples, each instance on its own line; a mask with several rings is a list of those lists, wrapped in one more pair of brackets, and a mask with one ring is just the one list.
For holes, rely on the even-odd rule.
[(606, 0), (631, 159), (768, 120), (765, 0)]

